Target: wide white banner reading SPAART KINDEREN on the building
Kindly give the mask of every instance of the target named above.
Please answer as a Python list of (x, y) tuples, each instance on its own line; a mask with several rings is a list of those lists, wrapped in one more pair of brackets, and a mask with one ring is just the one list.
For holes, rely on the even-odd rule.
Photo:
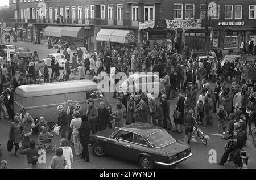
[(166, 19), (167, 29), (199, 29), (202, 20), (168, 20)]

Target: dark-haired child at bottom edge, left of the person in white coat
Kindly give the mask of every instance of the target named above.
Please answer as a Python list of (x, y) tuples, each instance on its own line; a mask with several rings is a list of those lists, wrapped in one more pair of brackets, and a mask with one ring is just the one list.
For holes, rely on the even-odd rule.
[(52, 169), (64, 169), (67, 165), (67, 161), (63, 156), (63, 149), (59, 148), (56, 150), (56, 155), (52, 157), (51, 161), (51, 168)]

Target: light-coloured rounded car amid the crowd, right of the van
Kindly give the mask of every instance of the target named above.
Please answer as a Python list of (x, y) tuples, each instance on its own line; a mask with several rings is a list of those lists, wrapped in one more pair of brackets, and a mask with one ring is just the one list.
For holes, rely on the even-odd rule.
[(133, 93), (141, 90), (142, 92), (150, 92), (154, 98), (157, 98), (163, 88), (164, 84), (158, 75), (151, 72), (147, 74), (135, 73), (122, 82), (119, 92)]

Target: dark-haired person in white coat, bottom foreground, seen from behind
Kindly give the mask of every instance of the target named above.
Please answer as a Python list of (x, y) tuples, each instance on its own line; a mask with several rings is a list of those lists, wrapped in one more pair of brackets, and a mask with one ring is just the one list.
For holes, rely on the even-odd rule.
[(73, 162), (73, 152), (69, 145), (68, 139), (63, 138), (60, 140), (60, 147), (63, 149), (63, 156), (67, 161), (67, 165), (64, 169), (71, 169), (71, 162)]

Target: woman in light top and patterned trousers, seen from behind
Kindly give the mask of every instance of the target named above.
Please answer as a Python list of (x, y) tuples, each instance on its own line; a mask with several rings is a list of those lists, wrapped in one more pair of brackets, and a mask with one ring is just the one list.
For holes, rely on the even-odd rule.
[(73, 118), (71, 120), (70, 127), (73, 129), (72, 134), (73, 134), (75, 153), (76, 153), (76, 156), (79, 156), (80, 153), (82, 153), (82, 148), (81, 148), (81, 144), (80, 144), (80, 137), (79, 137), (78, 129), (81, 126), (82, 119), (80, 118), (80, 113), (78, 111), (74, 112), (74, 117), (75, 118)]

